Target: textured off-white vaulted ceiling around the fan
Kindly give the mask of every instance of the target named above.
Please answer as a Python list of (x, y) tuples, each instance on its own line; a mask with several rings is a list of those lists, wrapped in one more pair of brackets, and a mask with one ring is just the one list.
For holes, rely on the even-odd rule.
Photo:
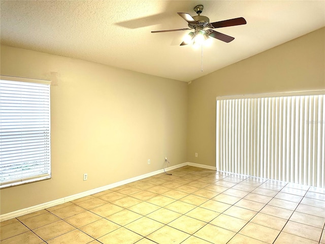
[[(218, 28), (235, 37), (211, 47), (179, 46), (190, 31), (177, 12), (210, 22), (244, 17)], [(325, 1), (1, 1), (1, 42), (55, 55), (191, 81), (325, 26)], [(310, 43), (312, 45), (312, 43)]]

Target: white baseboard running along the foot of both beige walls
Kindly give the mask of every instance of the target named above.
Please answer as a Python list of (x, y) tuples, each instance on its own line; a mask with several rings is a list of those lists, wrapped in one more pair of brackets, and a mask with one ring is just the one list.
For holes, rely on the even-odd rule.
[[(216, 168), (212, 167), (212, 166), (189, 163), (189, 162), (178, 164), (178, 165), (175, 165), (175, 166), (171, 166), (171, 167), (166, 168), (165, 170), (170, 171), (170, 170), (177, 169), (177, 168), (187, 166), (187, 165), (188, 166), (193, 166), (193, 167), (216, 170)], [(35, 205), (35, 206), (31, 206), (31, 207), (19, 209), (19, 210), (13, 211), (13, 212), (9, 212), (8, 214), (0, 215), (0, 222), (5, 221), (5, 220), (10, 220), (10, 219), (22, 216), (22, 215), (30, 214), (31, 212), (36, 212), (36, 211), (39, 211), (39, 210), (42, 210), (42, 209), (45, 209), (45, 208), (49, 208), (49, 207), (52, 207), (52, 206), (55, 206), (55, 205), (58, 205), (58, 204), (62, 204), (62, 203), (65, 203), (65, 202), (70, 202), (70, 201), (76, 200), (76, 199), (81, 198), (81, 197), (85, 197), (85, 196), (89, 196), (89, 195), (92, 195), (92, 194), (95, 194), (95, 193), (106, 191), (106, 190), (109, 190), (109, 189), (112, 189), (112, 188), (115, 188), (115, 187), (119, 187), (119, 186), (131, 183), (131, 182), (134, 182), (134, 181), (137, 181), (137, 180), (140, 180), (140, 179), (144, 179), (144, 178), (156, 175), (156, 174), (160, 174), (160, 173), (164, 173), (164, 169), (159, 169), (159, 170), (147, 173), (147, 174), (139, 175), (139, 176), (136, 176), (136, 177), (133, 177), (133, 178), (125, 179), (125, 180), (121, 180), (121, 181), (115, 182), (115, 183), (110, 184), (110, 185), (106, 185), (106, 186), (103, 186), (103, 187), (91, 189), (89, 191), (77, 193), (77, 194), (74, 194), (74, 195), (71, 195), (71, 196), (63, 197), (63, 198), (56, 199), (56, 200), (53, 200), (53, 201), (49, 201), (49, 202), (41, 203), (41, 204), (38, 204), (38, 205)]]

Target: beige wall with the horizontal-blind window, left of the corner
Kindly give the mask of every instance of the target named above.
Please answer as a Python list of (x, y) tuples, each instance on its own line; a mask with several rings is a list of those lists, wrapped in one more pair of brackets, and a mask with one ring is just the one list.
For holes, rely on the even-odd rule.
[(1, 46), (2, 75), (51, 72), (52, 179), (1, 190), (1, 214), (186, 162), (187, 83)]

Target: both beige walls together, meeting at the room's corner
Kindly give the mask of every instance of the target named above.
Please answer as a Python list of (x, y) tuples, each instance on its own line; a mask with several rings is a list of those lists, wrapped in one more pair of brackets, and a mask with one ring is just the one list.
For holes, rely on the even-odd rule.
[(216, 97), (325, 89), (324, 36), (319, 29), (190, 85), (1, 46), (2, 75), (50, 79), (56, 72), (58, 80), (52, 179), (1, 190), (1, 214), (159, 170), (165, 156), (171, 166), (215, 166)]

